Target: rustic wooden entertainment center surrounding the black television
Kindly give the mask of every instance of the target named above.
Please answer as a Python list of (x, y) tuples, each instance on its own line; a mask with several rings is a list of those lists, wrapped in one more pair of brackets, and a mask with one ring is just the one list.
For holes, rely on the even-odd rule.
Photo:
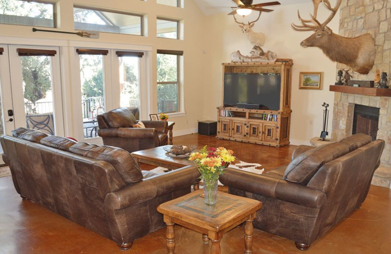
[[(222, 63), (225, 73), (279, 73), (279, 110), (217, 107), (217, 138), (281, 147), (289, 144), (292, 59), (271, 63)], [(224, 94), (224, 91), (223, 91)]]

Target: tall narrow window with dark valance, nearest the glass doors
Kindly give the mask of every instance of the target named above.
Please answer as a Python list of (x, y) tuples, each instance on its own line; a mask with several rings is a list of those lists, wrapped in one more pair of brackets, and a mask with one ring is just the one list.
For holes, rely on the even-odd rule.
[(96, 137), (96, 116), (106, 111), (103, 57), (109, 51), (94, 49), (76, 49), (76, 51), (80, 56), (84, 137)]

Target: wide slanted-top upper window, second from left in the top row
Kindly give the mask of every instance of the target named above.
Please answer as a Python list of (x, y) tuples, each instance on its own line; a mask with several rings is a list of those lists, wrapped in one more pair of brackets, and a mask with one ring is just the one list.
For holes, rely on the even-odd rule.
[(74, 6), (73, 21), (76, 30), (143, 35), (143, 17), (138, 14)]

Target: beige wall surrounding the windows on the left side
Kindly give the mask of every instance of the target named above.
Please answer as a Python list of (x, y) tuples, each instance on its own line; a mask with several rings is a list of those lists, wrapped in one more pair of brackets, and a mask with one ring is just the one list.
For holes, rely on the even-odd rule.
[[(205, 65), (202, 48), (203, 48), (203, 28), (204, 26), (204, 15), (201, 13), (199, 8), (195, 5), (193, 0), (185, 0), (185, 8), (175, 8), (171, 6), (156, 4), (156, 1), (139, 1), (139, 0), (59, 0), (59, 31), (71, 31), (73, 32), (73, 4), (86, 5), (99, 7), (103, 9), (119, 10), (123, 12), (135, 12), (146, 15), (146, 25), (148, 27), (148, 36), (132, 36), (122, 34), (110, 34), (100, 33), (99, 39), (86, 39), (76, 35), (60, 34), (60, 33), (48, 33), (48, 32), (32, 32), (30, 26), (20, 25), (6, 25), (0, 24), (1, 38), (0, 43), (4, 43), (5, 39), (12, 38), (11, 41), (14, 44), (37, 44), (40, 43), (41, 39), (44, 41), (56, 39), (61, 42), (63, 47), (67, 45), (86, 45), (94, 47), (95, 42), (99, 42), (100, 45), (115, 48), (117, 43), (129, 44), (129, 49), (137, 48), (137, 45), (147, 45), (152, 48), (151, 54), (147, 54), (145, 57), (149, 57), (148, 67), (149, 73), (147, 73), (150, 80), (149, 88), (151, 94), (151, 102), (148, 106), (149, 113), (156, 113), (156, 49), (173, 49), (184, 51), (184, 108), (186, 114), (181, 114), (179, 117), (172, 116), (170, 120), (175, 121), (174, 134), (185, 134), (196, 131), (197, 120), (203, 118), (203, 68)], [(174, 18), (184, 21), (183, 40), (172, 40), (156, 38), (156, 17), (167, 17)], [(49, 28), (50, 29), (50, 28)], [(19, 39), (18, 39), (19, 38)], [(36, 40), (38, 39), (38, 40)], [(43, 40), (42, 40), (43, 41)], [(10, 42), (5, 42), (10, 43)], [(46, 42), (45, 42), (46, 43)], [(55, 42), (54, 42), (55, 43)], [(64, 51), (67, 52), (66, 50)], [(65, 72), (63, 78), (64, 87), (73, 87), (73, 89), (80, 89), (78, 86), (73, 84), (72, 76), (80, 75), (79, 73), (72, 73), (72, 63), (69, 59), (72, 59), (72, 52), (69, 52), (68, 56), (64, 56), (65, 68), (68, 71)], [(148, 85), (148, 84), (147, 84)], [(72, 89), (68, 90), (72, 93)], [(74, 101), (73, 101), (74, 100)], [(73, 98), (72, 94), (68, 94), (66, 97), (65, 108), (71, 108), (72, 104), (78, 103), (78, 98)], [(119, 102), (117, 102), (119, 105)], [(113, 105), (113, 107), (115, 107)], [(71, 118), (72, 112), (69, 113)], [(68, 119), (68, 122), (71, 119)], [(66, 120), (65, 120), (66, 121)], [(65, 124), (66, 125), (66, 124)], [(65, 133), (69, 136), (74, 136), (75, 128), (66, 128), (68, 132)]]

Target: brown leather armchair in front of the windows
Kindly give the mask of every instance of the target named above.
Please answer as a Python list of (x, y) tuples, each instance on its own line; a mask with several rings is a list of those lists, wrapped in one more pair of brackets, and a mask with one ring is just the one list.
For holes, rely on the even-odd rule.
[(106, 146), (134, 152), (168, 144), (166, 121), (142, 121), (145, 128), (133, 128), (136, 118), (126, 107), (105, 112), (97, 118), (98, 135)]

